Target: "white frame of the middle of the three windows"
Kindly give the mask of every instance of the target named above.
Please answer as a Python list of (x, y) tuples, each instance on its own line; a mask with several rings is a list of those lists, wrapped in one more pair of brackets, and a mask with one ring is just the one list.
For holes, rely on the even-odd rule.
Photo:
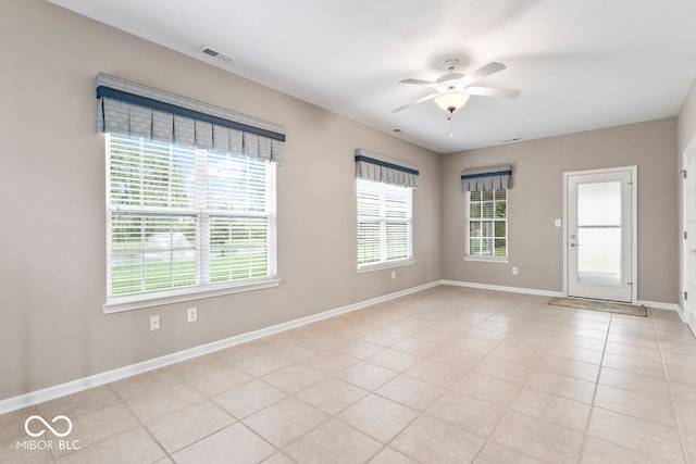
[[(362, 191), (362, 186), (369, 186), (370, 188), (374, 188), (378, 191), (378, 209), (380, 213), (377, 216), (374, 215), (361, 215), (361, 195), (365, 192)], [(386, 203), (387, 203), (387, 195), (389, 190), (394, 189), (403, 189), (400, 190), (401, 193), (406, 193), (407, 197), (407, 209), (405, 211), (406, 217), (397, 218), (397, 217), (387, 217), (386, 214)], [(357, 256), (357, 271), (358, 273), (365, 273), (371, 271), (385, 269), (390, 267), (401, 267), (414, 264), (413, 259), (413, 188), (405, 187), (394, 184), (381, 183), (377, 180), (366, 179), (366, 178), (356, 178), (356, 212), (357, 212), (357, 247), (356, 247), (356, 256)], [(360, 243), (360, 225), (363, 222), (372, 222), (380, 224), (380, 260), (378, 261), (370, 261), (370, 262), (360, 262), (361, 256), (361, 243)], [(387, 258), (387, 251), (389, 247), (389, 241), (387, 237), (387, 225), (388, 224), (399, 224), (406, 225), (406, 256), (403, 258)]]

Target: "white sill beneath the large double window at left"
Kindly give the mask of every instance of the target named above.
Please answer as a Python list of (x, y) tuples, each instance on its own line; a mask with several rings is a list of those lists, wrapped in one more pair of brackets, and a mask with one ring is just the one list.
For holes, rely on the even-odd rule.
[(263, 278), (253, 281), (247, 280), (244, 284), (224, 284), (204, 288), (182, 288), (133, 297), (116, 297), (108, 301), (102, 309), (104, 314), (121, 313), (123, 311), (141, 310), (145, 308), (200, 300), (202, 298), (219, 297), (222, 294), (261, 290), (277, 287), (278, 285), (281, 285), (279, 279)]

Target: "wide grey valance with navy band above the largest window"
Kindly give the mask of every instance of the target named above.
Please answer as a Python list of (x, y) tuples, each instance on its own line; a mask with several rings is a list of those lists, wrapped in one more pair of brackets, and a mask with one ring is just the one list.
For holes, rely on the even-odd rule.
[(285, 128), (152, 87), (99, 74), (97, 129), (281, 163)]

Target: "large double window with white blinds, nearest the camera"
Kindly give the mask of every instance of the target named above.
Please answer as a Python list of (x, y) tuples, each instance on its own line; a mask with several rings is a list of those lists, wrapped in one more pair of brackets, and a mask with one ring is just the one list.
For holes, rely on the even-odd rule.
[(108, 303), (275, 276), (275, 164), (107, 135)]

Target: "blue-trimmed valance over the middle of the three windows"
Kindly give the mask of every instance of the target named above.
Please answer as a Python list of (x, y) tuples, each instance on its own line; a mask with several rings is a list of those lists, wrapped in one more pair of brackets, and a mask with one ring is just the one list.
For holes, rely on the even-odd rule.
[(401, 160), (356, 149), (356, 177), (401, 187), (417, 187), (418, 166)]

